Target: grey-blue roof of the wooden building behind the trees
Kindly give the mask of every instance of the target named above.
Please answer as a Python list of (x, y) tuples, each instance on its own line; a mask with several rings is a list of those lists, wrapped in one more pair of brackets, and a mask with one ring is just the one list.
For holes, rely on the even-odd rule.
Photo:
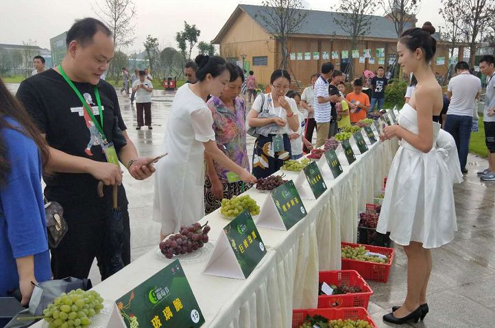
[[(261, 18), (260, 13), (267, 10), (274, 10), (274, 8), (265, 7), (263, 5), (238, 5), (234, 10), (227, 23), (222, 27), (219, 34), (212, 40), (212, 43), (219, 43), (219, 39), (228, 30), (228, 26), (239, 16), (241, 12), (245, 12), (250, 15), (258, 25), (263, 27), (267, 33), (272, 34), (274, 30), (267, 26)], [(342, 17), (340, 12), (324, 12), (321, 10), (298, 10), (306, 13), (306, 21), (302, 25), (298, 34), (311, 34), (321, 36), (349, 36), (346, 31), (335, 23), (335, 18)], [(372, 16), (370, 33), (365, 35), (371, 38), (381, 39), (397, 39), (397, 32), (395, 25), (388, 18), (383, 16)], [(413, 27), (412, 24), (407, 23), (406, 29)]]

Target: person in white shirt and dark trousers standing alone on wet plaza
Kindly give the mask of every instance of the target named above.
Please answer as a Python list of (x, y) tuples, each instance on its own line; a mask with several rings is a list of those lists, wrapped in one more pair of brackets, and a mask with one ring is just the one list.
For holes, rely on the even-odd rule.
[[(136, 92), (136, 112), (138, 115), (138, 126), (136, 130), (141, 130), (143, 125), (147, 125), (148, 129), (152, 128), (152, 81), (146, 78), (145, 71), (139, 71), (139, 79), (136, 79), (132, 84), (132, 92)], [(143, 111), (145, 119), (143, 122)]]

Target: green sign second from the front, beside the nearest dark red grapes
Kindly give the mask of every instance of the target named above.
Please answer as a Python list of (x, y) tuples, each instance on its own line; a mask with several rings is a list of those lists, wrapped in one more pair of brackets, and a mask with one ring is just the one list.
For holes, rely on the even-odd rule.
[(244, 210), (224, 227), (224, 231), (244, 277), (249, 277), (267, 253), (250, 212)]

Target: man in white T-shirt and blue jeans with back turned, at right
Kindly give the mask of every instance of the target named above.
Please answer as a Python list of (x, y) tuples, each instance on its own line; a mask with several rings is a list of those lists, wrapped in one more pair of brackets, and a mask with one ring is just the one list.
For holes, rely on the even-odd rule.
[(455, 139), (462, 173), (468, 173), (469, 140), (471, 137), (474, 101), (481, 93), (481, 80), (469, 72), (467, 62), (455, 65), (457, 76), (448, 82), (447, 97), (450, 99), (444, 130)]

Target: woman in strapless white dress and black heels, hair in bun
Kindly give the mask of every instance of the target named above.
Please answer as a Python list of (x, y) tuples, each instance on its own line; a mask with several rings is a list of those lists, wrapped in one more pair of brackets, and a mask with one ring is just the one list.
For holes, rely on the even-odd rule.
[(436, 147), (440, 126), (432, 120), (443, 107), (442, 88), (429, 64), (436, 50), (434, 32), (426, 22), (400, 37), (399, 64), (405, 72), (414, 73), (418, 84), (400, 111), (399, 125), (385, 127), (381, 136), (382, 140), (401, 139), (376, 227), (383, 234), (390, 231), (391, 240), (402, 245), (407, 255), (407, 297), (402, 306), (383, 316), (397, 324), (426, 316), (430, 249), (450, 242), (457, 230), (452, 177), (445, 150)]

